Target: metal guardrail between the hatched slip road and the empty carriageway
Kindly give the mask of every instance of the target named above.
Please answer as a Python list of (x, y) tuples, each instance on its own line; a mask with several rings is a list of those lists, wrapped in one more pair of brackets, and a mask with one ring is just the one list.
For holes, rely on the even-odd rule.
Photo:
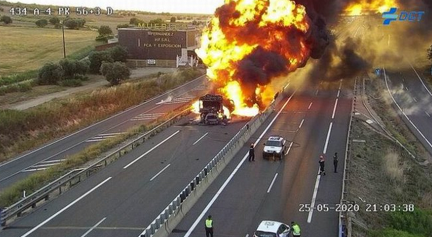
[(27, 211), (28, 209), (35, 209), (38, 204), (41, 202), (48, 201), (54, 196), (58, 196), (61, 193), (68, 190), (70, 187), (74, 186), (75, 184), (85, 180), (86, 178), (92, 176), (92, 174), (97, 173), (98, 171), (102, 170), (104, 167), (106, 167), (108, 164), (111, 164), (112, 162), (116, 161), (121, 156), (127, 154), (137, 146), (141, 145), (142, 143), (146, 142), (147, 139), (150, 137), (156, 135), (160, 132), (160, 130), (165, 129), (168, 126), (171, 126), (173, 123), (175, 123), (177, 118), (183, 117), (184, 115), (187, 115), (190, 113), (189, 106), (187, 106), (187, 109), (184, 109), (178, 114), (175, 114), (173, 117), (168, 119), (167, 121), (159, 124), (152, 130), (148, 131), (147, 133), (141, 135), (137, 139), (133, 140), (132, 142), (129, 142), (128, 144), (122, 146), (121, 148), (115, 150), (111, 154), (105, 156), (104, 158), (96, 161), (94, 164), (90, 165), (89, 167), (70, 171), (69, 173), (65, 174), (64, 176), (58, 178), (57, 180), (54, 180), (53, 182), (49, 183), (48, 185), (42, 187), (41, 189), (35, 191), (31, 195), (25, 197), (24, 199), (21, 199), (20, 201), (14, 203), (13, 205), (7, 207), (6, 209), (1, 210), (0, 212), (0, 224), (1, 226), (6, 226), (7, 222), (10, 220), (13, 220), (16, 217), (19, 217)]

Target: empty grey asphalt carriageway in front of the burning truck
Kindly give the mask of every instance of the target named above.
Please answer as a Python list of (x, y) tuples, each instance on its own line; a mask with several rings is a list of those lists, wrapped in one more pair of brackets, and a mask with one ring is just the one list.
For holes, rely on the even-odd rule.
[(8, 236), (138, 236), (245, 125), (190, 125), (186, 117), (65, 195), (1, 232)]

